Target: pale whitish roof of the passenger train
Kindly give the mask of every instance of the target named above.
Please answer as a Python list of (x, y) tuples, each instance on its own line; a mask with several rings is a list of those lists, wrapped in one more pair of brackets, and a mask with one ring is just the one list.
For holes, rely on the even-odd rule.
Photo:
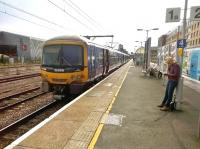
[(55, 37), (55, 38), (51, 38), (51, 39), (47, 40), (46, 42), (50, 42), (52, 40), (68, 40), (68, 41), (84, 42), (87, 45), (93, 45), (93, 46), (96, 46), (96, 47), (99, 47), (99, 48), (104, 48), (104, 49), (107, 49), (109, 51), (113, 51), (113, 52), (120, 53), (120, 54), (128, 56), (128, 54), (125, 54), (125, 53), (122, 53), (120, 51), (114, 50), (113, 48), (105, 46), (105, 45), (97, 44), (97, 43), (95, 43), (95, 42), (93, 42), (93, 41), (91, 41), (91, 40), (89, 40), (89, 39), (87, 39), (87, 38), (85, 38), (83, 36), (78, 36), (78, 35), (58, 36), (58, 37)]

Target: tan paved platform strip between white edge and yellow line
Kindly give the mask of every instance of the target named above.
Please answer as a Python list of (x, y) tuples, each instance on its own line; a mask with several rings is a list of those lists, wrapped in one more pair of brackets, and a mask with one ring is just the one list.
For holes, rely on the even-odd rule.
[[(7, 148), (86, 149), (128, 72), (130, 62)], [(36, 131), (35, 131), (36, 130)], [(24, 139), (25, 138), (25, 139)]]

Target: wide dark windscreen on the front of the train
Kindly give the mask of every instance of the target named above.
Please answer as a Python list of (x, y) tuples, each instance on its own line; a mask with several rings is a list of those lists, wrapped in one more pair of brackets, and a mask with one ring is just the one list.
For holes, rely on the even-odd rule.
[(78, 45), (51, 45), (43, 49), (43, 66), (81, 67), (83, 48)]

